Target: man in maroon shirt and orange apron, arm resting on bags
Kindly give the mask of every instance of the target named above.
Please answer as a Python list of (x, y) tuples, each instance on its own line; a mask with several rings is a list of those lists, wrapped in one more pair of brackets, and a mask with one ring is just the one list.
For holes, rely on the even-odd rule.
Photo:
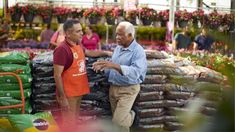
[[(54, 78), (57, 88), (57, 100), (62, 108), (62, 131), (74, 131), (76, 116), (79, 115), (81, 97), (84, 93), (88, 93), (86, 91), (80, 95), (74, 90), (83, 89), (83, 86), (76, 83), (81, 82), (81, 80), (76, 80), (77, 76), (82, 76), (78, 77), (79, 79), (87, 78), (86, 71), (84, 71), (85, 64), (80, 62), (84, 62), (84, 54), (90, 57), (110, 56), (111, 54), (105, 51), (81, 50), (79, 43), (83, 32), (79, 21), (73, 19), (67, 20), (63, 28), (65, 40), (55, 49), (53, 55)], [(80, 59), (78, 60), (77, 58)], [(70, 81), (68, 78), (71, 78), (73, 81)]]

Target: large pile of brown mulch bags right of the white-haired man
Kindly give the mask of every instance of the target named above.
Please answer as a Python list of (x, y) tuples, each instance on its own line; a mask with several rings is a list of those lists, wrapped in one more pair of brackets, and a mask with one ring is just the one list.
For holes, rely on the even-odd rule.
[[(187, 58), (171, 56), (164, 52), (146, 51), (146, 55), (147, 75), (133, 106), (137, 128), (179, 130), (183, 123), (178, 121), (176, 112), (183, 112), (189, 100), (199, 96), (202, 89), (205, 89), (202, 85), (216, 83), (217, 88), (212, 86), (214, 91), (210, 90), (210, 93), (215, 95), (216, 92), (221, 92), (219, 87), (224, 76), (218, 72), (196, 66)], [(218, 93), (215, 96), (219, 98)], [(204, 105), (202, 113), (212, 115), (215, 112), (216, 105), (211, 100), (213, 99)]]

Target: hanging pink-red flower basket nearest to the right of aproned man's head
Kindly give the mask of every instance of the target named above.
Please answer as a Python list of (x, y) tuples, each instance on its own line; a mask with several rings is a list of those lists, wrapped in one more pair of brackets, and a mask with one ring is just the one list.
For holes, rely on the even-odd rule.
[(88, 8), (83, 13), (83, 15), (89, 19), (90, 24), (96, 24), (104, 14), (105, 10), (99, 7)]

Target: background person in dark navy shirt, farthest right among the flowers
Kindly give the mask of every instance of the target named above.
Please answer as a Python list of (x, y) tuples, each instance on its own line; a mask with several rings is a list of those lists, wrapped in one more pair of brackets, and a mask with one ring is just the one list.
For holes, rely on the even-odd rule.
[(205, 27), (202, 28), (201, 34), (197, 35), (194, 40), (194, 49), (210, 50), (214, 40), (211, 38)]

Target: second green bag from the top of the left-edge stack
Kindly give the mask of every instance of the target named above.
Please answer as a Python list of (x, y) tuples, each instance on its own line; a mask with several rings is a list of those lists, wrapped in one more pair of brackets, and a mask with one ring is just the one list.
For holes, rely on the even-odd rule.
[(14, 72), (16, 74), (30, 74), (31, 69), (29, 64), (19, 65), (19, 64), (0, 64), (0, 72)]

